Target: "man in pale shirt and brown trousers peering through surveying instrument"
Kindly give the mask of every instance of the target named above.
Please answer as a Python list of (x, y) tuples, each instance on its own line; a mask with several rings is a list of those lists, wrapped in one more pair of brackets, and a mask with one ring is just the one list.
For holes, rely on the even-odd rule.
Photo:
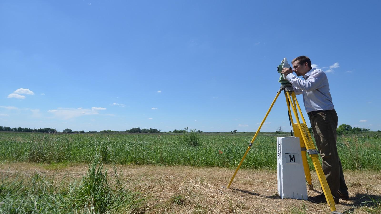
[[(291, 62), (291, 69), (283, 68), (282, 73), (292, 84), (295, 94), (303, 94), (304, 107), (312, 126), (317, 149), (322, 157), (322, 169), (330, 187), (333, 200), (348, 199), (348, 187), (345, 184), (343, 168), (336, 147), (336, 129), (338, 117), (333, 109), (327, 75), (320, 69), (311, 67), (307, 56), (299, 56)], [(311, 201), (326, 202), (323, 194), (309, 197)]]

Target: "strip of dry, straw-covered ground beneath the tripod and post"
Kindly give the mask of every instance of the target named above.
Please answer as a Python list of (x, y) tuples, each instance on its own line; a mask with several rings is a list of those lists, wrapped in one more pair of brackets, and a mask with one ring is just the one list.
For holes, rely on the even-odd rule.
[[(111, 166), (106, 167), (113, 176)], [(39, 173), (70, 182), (85, 175), (87, 168), (88, 164), (2, 163), (0, 174)], [(275, 171), (241, 169), (231, 188), (225, 189), (233, 169), (136, 165), (117, 165), (117, 169), (128, 188), (149, 196), (149, 213), (330, 213), (327, 204), (280, 199)], [(311, 174), (315, 190), (320, 191), (315, 172)], [(381, 200), (380, 172), (346, 171), (344, 176), (351, 200), (340, 200), (338, 211), (367, 213), (375, 204), (362, 203), (370, 200), (364, 196)], [(319, 194), (308, 191), (309, 196)]]

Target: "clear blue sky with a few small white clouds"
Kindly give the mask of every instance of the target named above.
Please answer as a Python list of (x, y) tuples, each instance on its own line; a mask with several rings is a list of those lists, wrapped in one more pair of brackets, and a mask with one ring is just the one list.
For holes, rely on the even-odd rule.
[[(0, 125), (256, 131), (276, 67), (306, 55), (327, 72), (339, 124), (381, 130), (380, 6), (3, 0)], [(279, 126), (283, 95), (261, 131)]]

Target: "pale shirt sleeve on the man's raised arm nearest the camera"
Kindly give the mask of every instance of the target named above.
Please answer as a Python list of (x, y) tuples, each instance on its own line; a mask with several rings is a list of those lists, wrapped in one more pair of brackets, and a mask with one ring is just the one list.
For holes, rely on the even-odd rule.
[(295, 88), (298, 88), (299, 90), (313, 91), (323, 86), (325, 73), (321, 71), (312, 72), (307, 80), (302, 80), (301, 78), (296, 77), (293, 73), (289, 73), (286, 76), (286, 79), (292, 84), (292, 86), (295, 86)]

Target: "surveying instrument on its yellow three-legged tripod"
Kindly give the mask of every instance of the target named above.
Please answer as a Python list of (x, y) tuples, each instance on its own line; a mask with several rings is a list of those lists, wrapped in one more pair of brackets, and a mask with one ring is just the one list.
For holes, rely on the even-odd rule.
[[(323, 190), (325, 199), (327, 201), (328, 206), (330, 206), (330, 208), (331, 208), (331, 213), (332, 214), (341, 214), (341, 212), (336, 211), (335, 201), (333, 200), (333, 196), (331, 194), (330, 187), (328, 186), (327, 180), (325, 179), (325, 175), (323, 173), (322, 166), (320, 165), (320, 162), (319, 162), (319, 157), (318, 157), (319, 152), (315, 148), (314, 142), (312, 141), (311, 134), (308, 131), (306, 121), (304, 120), (303, 113), (300, 109), (298, 100), (296, 99), (295, 92), (292, 88), (291, 83), (281, 73), (283, 68), (290, 68), (291, 69), (286, 58), (284, 58), (282, 60), (282, 64), (280, 64), (277, 67), (278, 73), (280, 73), (280, 77), (279, 77), (279, 83), (281, 84), (280, 89), (279, 89), (277, 95), (275, 96), (274, 101), (272, 101), (269, 110), (267, 110), (267, 113), (264, 116), (264, 118), (261, 122), (261, 125), (259, 125), (259, 128), (256, 131), (253, 139), (250, 141), (250, 144), (247, 147), (247, 150), (246, 150), (245, 154), (243, 155), (242, 160), (238, 164), (238, 167), (235, 170), (234, 175), (229, 182), (229, 185), (227, 185), (227, 188), (229, 188), (230, 185), (232, 184), (235, 175), (237, 174), (241, 164), (243, 163), (243, 160), (245, 160), (247, 153), (249, 152), (251, 146), (253, 145), (255, 138), (258, 136), (259, 130), (261, 129), (262, 125), (264, 124), (264, 121), (266, 120), (267, 115), (269, 115), (270, 110), (272, 109), (272, 106), (275, 104), (275, 101), (277, 100), (280, 92), (284, 91), (284, 94), (286, 97), (286, 102), (287, 102), (287, 107), (288, 107), (288, 116), (290, 118), (290, 122), (292, 123), (292, 127), (293, 127), (293, 131), (294, 131), (295, 136), (299, 137), (300, 150), (301, 150), (302, 160), (303, 160), (304, 175), (306, 176), (308, 189), (314, 190), (314, 187), (312, 185), (312, 178), (311, 178), (311, 173), (310, 173), (309, 167), (308, 167), (306, 153), (308, 153), (309, 157), (312, 160), (312, 163), (314, 164), (314, 167), (315, 167), (315, 170), (317, 173), (317, 177), (319, 178), (320, 185), (322, 186), (322, 190)], [(293, 121), (293, 117), (291, 115), (291, 110), (295, 115), (296, 123), (294, 123), (294, 121)], [(300, 117), (302, 118), (303, 123), (300, 123), (300, 121), (299, 121), (298, 111), (300, 113)], [(291, 136), (292, 136), (292, 130), (291, 130)]]

